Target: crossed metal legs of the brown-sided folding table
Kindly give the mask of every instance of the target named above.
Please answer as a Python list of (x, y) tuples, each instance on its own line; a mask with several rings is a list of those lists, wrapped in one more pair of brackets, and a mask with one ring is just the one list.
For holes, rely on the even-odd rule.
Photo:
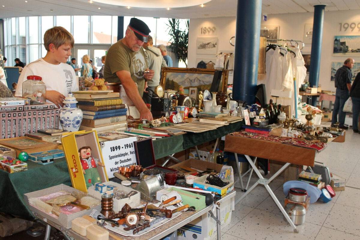
[[(251, 160), (251, 158), (248, 155), (245, 155), (246, 159), (248, 160), (248, 162), (250, 163), (251, 167), (253, 168), (253, 170), (255, 171), (255, 173), (257, 174), (257, 176), (259, 177), (259, 180), (253, 185), (253, 186), (257, 186), (257, 184), (262, 184), (265, 186), (266, 190), (269, 192), (270, 196), (273, 198), (274, 202), (276, 203), (276, 205), (278, 206), (278, 208), (280, 209), (280, 211), (283, 213), (284, 217), (286, 218), (286, 220), (288, 221), (288, 223), (292, 226), (292, 228), (294, 229), (294, 232), (299, 233), (299, 231), (296, 229), (296, 226), (294, 225), (294, 223), (291, 221), (289, 215), (285, 212), (285, 209), (283, 208), (283, 206), (280, 204), (279, 200), (276, 198), (274, 192), (271, 190), (269, 183), (275, 179), (275, 177), (277, 177), (279, 174), (282, 173), (282, 171), (284, 171), (291, 163), (285, 163), (285, 165), (280, 168), (270, 179), (265, 179), (260, 171), (257, 169), (257, 167), (255, 166), (255, 164), (253, 163), (253, 161)], [(240, 199), (243, 199), (243, 197), (245, 195), (247, 195), (252, 189), (253, 186), (249, 189), (249, 191), (247, 191)], [(239, 200), (238, 200), (239, 202)]]

